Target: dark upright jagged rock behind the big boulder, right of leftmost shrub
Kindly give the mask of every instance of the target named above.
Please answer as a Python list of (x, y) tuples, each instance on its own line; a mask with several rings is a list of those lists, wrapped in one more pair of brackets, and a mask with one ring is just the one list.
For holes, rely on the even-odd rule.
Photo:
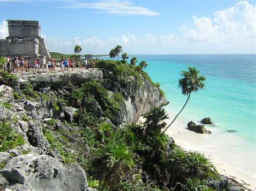
[(32, 121), (29, 121), (29, 129), (26, 132), (26, 136), (32, 146), (39, 147), (43, 151), (50, 147), (50, 144), (43, 136), (42, 129)]

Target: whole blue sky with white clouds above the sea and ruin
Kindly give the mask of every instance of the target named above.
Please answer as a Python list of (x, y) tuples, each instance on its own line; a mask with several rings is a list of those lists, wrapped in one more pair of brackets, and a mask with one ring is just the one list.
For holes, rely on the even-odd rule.
[(0, 0), (8, 19), (38, 20), (51, 52), (105, 54), (255, 53), (255, 1)]

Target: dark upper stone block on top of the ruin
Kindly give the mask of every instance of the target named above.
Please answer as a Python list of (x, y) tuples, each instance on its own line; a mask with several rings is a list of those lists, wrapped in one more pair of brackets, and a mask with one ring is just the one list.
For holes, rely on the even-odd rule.
[(9, 38), (40, 38), (41, 27), (38, 21), (8, 20)]

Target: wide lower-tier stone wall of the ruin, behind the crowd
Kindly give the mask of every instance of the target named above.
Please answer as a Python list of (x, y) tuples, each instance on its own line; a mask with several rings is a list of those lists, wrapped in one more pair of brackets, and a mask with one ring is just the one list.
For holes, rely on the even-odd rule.
[(36, 55), (39, 52), (39, 40), (35, 38), (0, 40), (2, 55)]

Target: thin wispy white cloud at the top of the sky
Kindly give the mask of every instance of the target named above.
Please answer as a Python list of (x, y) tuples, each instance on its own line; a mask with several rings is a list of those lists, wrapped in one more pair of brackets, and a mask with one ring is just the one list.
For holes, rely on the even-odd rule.
[(98, 9), (103, 10), (107, 13), (117, 14), (117, 15), (146, 15), (146, 16), (157, 16), (159, 15), (156, 11), (151, 11), (149, 9), (143, 8), (142, 6), (134, 6), (132, 2), (129, 1), (118, 1), (118, 0), (105, 0), (98, 1), (95, 3), (82, 3), (75, 2), (68, 6), (63, 6), (63, 8), (69, 9)]

